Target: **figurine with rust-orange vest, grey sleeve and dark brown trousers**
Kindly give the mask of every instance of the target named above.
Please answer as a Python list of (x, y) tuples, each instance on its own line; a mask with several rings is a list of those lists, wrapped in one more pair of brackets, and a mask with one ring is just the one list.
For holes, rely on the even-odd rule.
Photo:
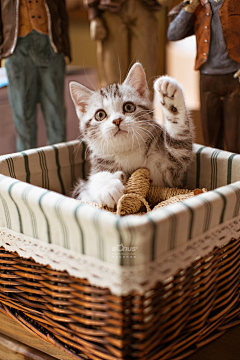
[(190, 0), (184, 5), (169, 14), (176, 16), (168, 38), (196, 35), (205, 144), (240, 153), (240, 1)]

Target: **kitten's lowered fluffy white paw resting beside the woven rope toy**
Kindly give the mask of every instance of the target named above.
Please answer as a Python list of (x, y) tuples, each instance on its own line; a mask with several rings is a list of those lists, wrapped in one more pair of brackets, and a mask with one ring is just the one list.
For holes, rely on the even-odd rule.
[(124, 194), (127, 177), (122, 171), (102, 171), (89, 179), (89, 193), (94, 202), (114, 208)]

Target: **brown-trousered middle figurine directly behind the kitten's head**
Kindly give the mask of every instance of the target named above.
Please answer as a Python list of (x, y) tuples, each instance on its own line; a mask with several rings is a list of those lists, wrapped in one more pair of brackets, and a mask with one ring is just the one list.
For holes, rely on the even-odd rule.
[(118, 83), (139, 61), (147, 80), (157, 75), (159, 62), (157, 11), (171, 0), (84, 0), (90, 35), (97, 41), (101, 85)]

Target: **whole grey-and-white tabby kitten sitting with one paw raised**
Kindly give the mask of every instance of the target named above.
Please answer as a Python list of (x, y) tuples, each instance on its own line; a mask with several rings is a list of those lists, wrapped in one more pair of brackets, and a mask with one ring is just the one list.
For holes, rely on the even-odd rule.
[(79, 180), (73, 197), (113, 208), (124, 193), (127, 178), (141, 167), (150, 170), (152, 185), (181, 185), (192, 158), (192, 122), (175, 79), (162, 76), (154, 89), (164, 125), (153, 118), (145, 72), (139, 63), (122, 84), (98, 91), (70, 83), (91, 162), (88, 180)]

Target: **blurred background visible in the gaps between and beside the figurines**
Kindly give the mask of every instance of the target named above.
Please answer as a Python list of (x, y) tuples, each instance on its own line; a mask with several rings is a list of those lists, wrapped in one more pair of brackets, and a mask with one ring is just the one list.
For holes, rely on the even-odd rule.
[[(199, 74), (193, 70), (195, 58), (195, 37), (178, 42), (168, 42), (168, 11), (179, 0), (172, 0), (171, 7), (161, 8), (158, 12), (160, 59), (158, 74), (175, 77), (182, 85), (186, 102), (196, 128), (196, 142), (203, 143), (199, 117)], [(69, 36), (72, 49), (72, 62), (67, 66), (65, 81), (65, 101), (67, 108), (67, 140), (79, 137), (78, 119), (69, 94), (69, 82), (78, 81), (89, 88), (99, 86), (96, 57), (96, 42), (90, 39), (89, 20), (82, 0), (66, 0), (69, 15)], [(16, 134), (5, 78), (4, 61), (0, 68), (0, 155), (16, 151)], [(38, 111), (38, 146), (46, 145), (45, 125), (41, 111)]]

